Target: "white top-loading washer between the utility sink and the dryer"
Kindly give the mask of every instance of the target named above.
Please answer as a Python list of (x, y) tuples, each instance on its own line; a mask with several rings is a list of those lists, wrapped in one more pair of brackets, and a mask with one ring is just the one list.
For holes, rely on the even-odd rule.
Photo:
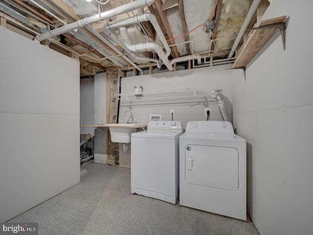
[(131, 192), (176, 204), (179, 194), (180, 121), (150, 121), (132, 133)]

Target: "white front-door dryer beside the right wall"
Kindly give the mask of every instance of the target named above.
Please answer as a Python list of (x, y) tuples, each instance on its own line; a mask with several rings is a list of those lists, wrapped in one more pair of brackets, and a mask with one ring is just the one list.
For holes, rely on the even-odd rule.
[(190, 121), (179, 137), (179, 204), (246, 220), (246, 140), (225, 121)]

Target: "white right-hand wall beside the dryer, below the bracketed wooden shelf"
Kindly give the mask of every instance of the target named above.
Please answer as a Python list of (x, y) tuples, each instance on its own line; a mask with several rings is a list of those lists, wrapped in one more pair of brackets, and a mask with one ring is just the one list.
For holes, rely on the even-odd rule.
[(241, 71), (232, 71), (233, 121), (247, 141), (248, 211), (260, 235), (313, 234), (313, 2), (272, 0), (262, 20), (287, 15)]

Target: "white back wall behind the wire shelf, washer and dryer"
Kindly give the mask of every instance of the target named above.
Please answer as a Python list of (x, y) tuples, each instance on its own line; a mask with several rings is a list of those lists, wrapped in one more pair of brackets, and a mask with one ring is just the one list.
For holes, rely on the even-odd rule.
[(170, 110), (175, 109), (173, 120), (182, 121), (183, 128), (185, 128), (188, 121), (206, 120), (207, 117), (204, 115), (205, 108), (212, 109), (210, 120), (222, 120), (218, 104), (211, 98), (211, 90), (218, 88), (223, 89), (227, 112), (229, 117), (232, 118), (231, 70), (225, 70), (230, 67), (230, 65), (205, 67), (122, 78), (122, 94), (134, 93), (134, 85), (142, 85), (144, 93), (203, 87), (206, 94), (202, 94), (200, 99), (192, 101), (190, 108), (188, 99), (181, 100), (176, 97), (166, 96), (166, 100), (157, 101), (157, 97), (149, 98), (144, 96), (142, 99), (132, 98), (127, 101), (125, 96), (122, 96), (119, 122), (121, 122), (121, 118), (124, 121), (128, 120), (129, 113), (124, 116), (127, 110), (132, 111), (134, 120), (137, 122), (148, 123), (150, 114), (161, 115), (162, 120), (171, 120)]

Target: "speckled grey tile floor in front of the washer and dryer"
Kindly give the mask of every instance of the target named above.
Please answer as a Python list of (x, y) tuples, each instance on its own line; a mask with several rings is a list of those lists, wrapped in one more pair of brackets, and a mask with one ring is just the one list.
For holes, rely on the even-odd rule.
[(83, 165), (81, 183), (8, 222), (36, 222), (39, 235), (258, 235), (242, 221), (131, 194), (131, 169)]

